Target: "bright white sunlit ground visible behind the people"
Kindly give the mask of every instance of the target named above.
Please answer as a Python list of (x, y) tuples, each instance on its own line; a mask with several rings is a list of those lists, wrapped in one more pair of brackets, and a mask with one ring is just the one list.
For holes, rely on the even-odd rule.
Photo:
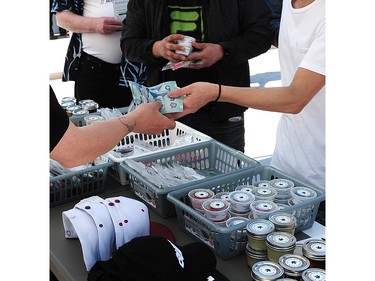
[[(50, 84), (57, 99), (74, 96), (74, 82), (62, 82), (61, 71), (70, 38), (49, 41)], [(281, 85), (278, 50), (268, 52), (249, 60), (251, 86), (274, 87)], [(245, 112), (245, 154), (261, 160), (270, 157), (275, 145), (276, 127), (280, 114), (248, 109)], [(265, 162), (267, 163), (267, 162)]]

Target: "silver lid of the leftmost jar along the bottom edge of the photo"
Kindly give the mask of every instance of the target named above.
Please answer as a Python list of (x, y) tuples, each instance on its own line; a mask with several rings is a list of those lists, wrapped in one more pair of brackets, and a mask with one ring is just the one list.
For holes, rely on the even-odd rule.
[(253, 279), (260, 281), (272, 281), (284, 275), (284, 269), (272, 261), (259, 261), (253, 264)]

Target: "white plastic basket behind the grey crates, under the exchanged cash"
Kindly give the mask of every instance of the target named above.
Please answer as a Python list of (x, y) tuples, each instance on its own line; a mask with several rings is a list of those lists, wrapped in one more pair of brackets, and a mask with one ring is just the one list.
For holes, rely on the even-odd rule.
[[(183, 136), (189, 136), (189, 138), (191, 136), (191, 140), (189, 140), (188, 142), (181, 142), (177, 144), (176, 141), (178, 141), (178, 139)], [(116, 153), (116, 151), (119, 150), (132, 148), (136, 140), (151, 145), (155, 150), (144, 150), (143, 152), (138, 150), (137, 154), (130, 156), (120, 156)], [(184, 147), (187, 145), (209, 140), (212, 140), (212, 138), (178, 121), (176, 121), (176, 127), (174, 129), (166, 129), (160, 135), (147, 135), (140, 133), (127, 134), (121, 140), (121, 142), (113, 148), (111, 152), (108, 152), (108, 157), (115, 163), (109, 169), (108, 174), (116, 181), (118, 181), (121, 185), (127, 185), (129, 184), (129, 177), (124, 169), (120, 168), (120, 163), (123, 162), (126, 158), (136, 157), (145, 153), (152, 154), (161, 150)]]

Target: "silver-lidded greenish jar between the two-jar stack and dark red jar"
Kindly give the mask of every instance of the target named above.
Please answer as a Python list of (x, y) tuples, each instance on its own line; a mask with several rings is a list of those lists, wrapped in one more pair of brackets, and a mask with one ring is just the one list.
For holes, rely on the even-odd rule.
[(293, 254), (297, 239), (288, 232), (275, 231), (267, 235), (267, 257), (270, 261), (279, 262), (286, 254)]

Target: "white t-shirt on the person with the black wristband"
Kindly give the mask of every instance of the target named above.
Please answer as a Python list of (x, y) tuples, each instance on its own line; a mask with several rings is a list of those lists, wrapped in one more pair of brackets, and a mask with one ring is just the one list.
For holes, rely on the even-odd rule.
[[(325, 75), (325, 0), (300, 9), (283, 1), (279, 56), (284, 86), (299, 67)], [(299, 114), (282, 114), (271, 165), (325, 188), (325, 87)]]

